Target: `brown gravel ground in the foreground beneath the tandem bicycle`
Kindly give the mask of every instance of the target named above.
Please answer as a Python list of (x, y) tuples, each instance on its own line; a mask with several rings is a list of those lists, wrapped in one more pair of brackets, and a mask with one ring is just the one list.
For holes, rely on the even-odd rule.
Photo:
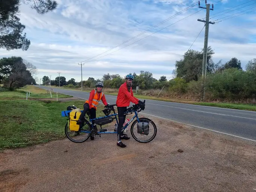
[(101, 135), (4, 150), (0, 191), (256, 191), (255, 143), (153, 121), (155, 139), (138, 143), (131, 137), (123, 141), (126, 148), (116, 146), (116, 135)]

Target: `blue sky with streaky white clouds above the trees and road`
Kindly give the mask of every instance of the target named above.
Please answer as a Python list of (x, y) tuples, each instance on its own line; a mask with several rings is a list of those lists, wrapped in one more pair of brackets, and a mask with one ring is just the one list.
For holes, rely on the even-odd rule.
[[(169, 79), (175, 61), (182, 58), (202, 30), (204, 23), (197, 19), (203, 19), (206, 12), (196, 4), (174, 16), (198, 0), (57, 1), (57, 9), (46, 15), (38, 15), (30, 4), (22, 4), (20, 18), (26, 26), (30, 48), (0, 49), (0, 57), (21, 56), (36, 65), (39, 78), (51, 75), (55, 79), (60, 71), (66, 80), (80, 81), (78, 63), (82, 62), (83, 80), (101, 78), (106, 73), (139, 74), (141, 70), (152, 72), (156, 79), (162, 75)], [(237, 57), (245, 68), (248, 60), (256, 58), (256, 0), (218, 1), (207, 1), (216, 3), (210, 10), (210, 21), (221, 21), (210, 24), (208, 46), (215, 51), (213, 59), (224, 63)], [(246, 14), (240, 15), (243, 13)], [(204, 30), (191, 49), (199, 51), (203, 44)]]

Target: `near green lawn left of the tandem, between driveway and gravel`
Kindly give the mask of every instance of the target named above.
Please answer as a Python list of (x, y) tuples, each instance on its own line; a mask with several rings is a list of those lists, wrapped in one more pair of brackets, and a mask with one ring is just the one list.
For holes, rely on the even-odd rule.
[[(65, 138), (67, 117), (61, 111), (67, 106), (83, 107), (84, 101), (0, 100), (0, 150), (26, 147)], [(99, 105), (97, 117), (103, 116)]]

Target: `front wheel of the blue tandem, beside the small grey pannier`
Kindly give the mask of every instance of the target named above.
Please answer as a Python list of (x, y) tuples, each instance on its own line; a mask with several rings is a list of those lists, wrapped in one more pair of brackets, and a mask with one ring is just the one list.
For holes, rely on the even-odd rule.
[(139, 118), (139, 122), (146, 122), (149, 124), (149, 133), (145, 135), (145, 134), (140, 134), (138, 132), (137, 130), (138, 120), (136, 119), (131, 125), (132, 137), (140, 143), (148, 143), (152, 141), (156, 137), (156, 132), (157, 132), (156, 124), (151, 119), (148, 119), (148, 118)]

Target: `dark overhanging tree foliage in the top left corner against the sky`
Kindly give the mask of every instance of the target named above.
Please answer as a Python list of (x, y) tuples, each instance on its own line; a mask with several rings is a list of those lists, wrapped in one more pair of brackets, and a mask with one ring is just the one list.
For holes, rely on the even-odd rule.
[[(0, 48), (7, 51), (12, 49), (22, 49), (27, 51), (30, 40), (23, 33), (25, 25), (22, 25), (18, 18), (20, 0), (0, 1)], [(44, 14), (57, 7), (55, 0), (23, 0), (24, 3), (33, 2), (31, 8), (37, 13)]]

